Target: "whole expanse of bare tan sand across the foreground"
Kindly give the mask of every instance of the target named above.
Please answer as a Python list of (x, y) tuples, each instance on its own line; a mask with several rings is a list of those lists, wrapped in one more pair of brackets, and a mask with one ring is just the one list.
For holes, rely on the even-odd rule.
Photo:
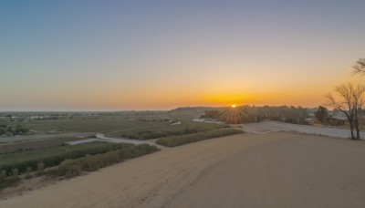
[(245, 133), (133, 159), (0, 207), (365, 207), (365, 142)]

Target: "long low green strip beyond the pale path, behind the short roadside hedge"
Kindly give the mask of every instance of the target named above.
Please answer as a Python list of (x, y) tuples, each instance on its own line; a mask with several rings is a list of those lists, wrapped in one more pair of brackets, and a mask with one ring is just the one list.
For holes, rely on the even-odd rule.
[(180, 125), (169, 125), (160, 128), (126, 130), (108, 134), (110, 137), (129, 138), (134, 140), (150, 140), (162, 137), (187, 135), (226, 127), (222, 124), (183, 121)]

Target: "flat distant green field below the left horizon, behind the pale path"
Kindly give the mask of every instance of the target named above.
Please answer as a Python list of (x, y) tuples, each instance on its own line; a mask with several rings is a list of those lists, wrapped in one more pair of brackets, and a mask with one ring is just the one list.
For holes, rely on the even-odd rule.
[[(116, 112), (3, 112), (0, 125), (36, 133), (99, 132), (137, 130), (169, 126), (170, 120), (192, 120), (203, 114), (200, 110), (146, 110)], [(5, 117), (12, 115), (13, 118)], [(32, 117), (43, 119), (30, 119)], [(1, 135), (0, 135), (1, 136)]]

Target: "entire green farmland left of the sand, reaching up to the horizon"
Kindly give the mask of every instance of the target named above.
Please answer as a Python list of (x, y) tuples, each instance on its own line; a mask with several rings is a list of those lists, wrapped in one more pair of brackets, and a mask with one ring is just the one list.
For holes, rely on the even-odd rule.
[[(172, 147), (241, 132), (229, 129), (225, 124), (192, 121), (202, 115), (203, 110), (19, 112), (13, 113), (12, 117), (3, 113), (6, 116), (0, 119), (0, 125), (4, 130), (19, 126), (28, 131), (21, 136), (12, 137), (8, 132), (0, 135), (2, 140), (6, 140), (0, 145), (0, 189), (38, 173), (72, 177), (159, 151), (150, 144), (92, 142), (63, 145), (65, 141), (81, 140), (95, 133), (112, 138), (159, 139), (158, 143)], [(35, 115), (38, 119), (30, 119)], [(173, 122), (180, 124), (171, 125)], [(18, 174), (24, 175), (18, 177)]]

